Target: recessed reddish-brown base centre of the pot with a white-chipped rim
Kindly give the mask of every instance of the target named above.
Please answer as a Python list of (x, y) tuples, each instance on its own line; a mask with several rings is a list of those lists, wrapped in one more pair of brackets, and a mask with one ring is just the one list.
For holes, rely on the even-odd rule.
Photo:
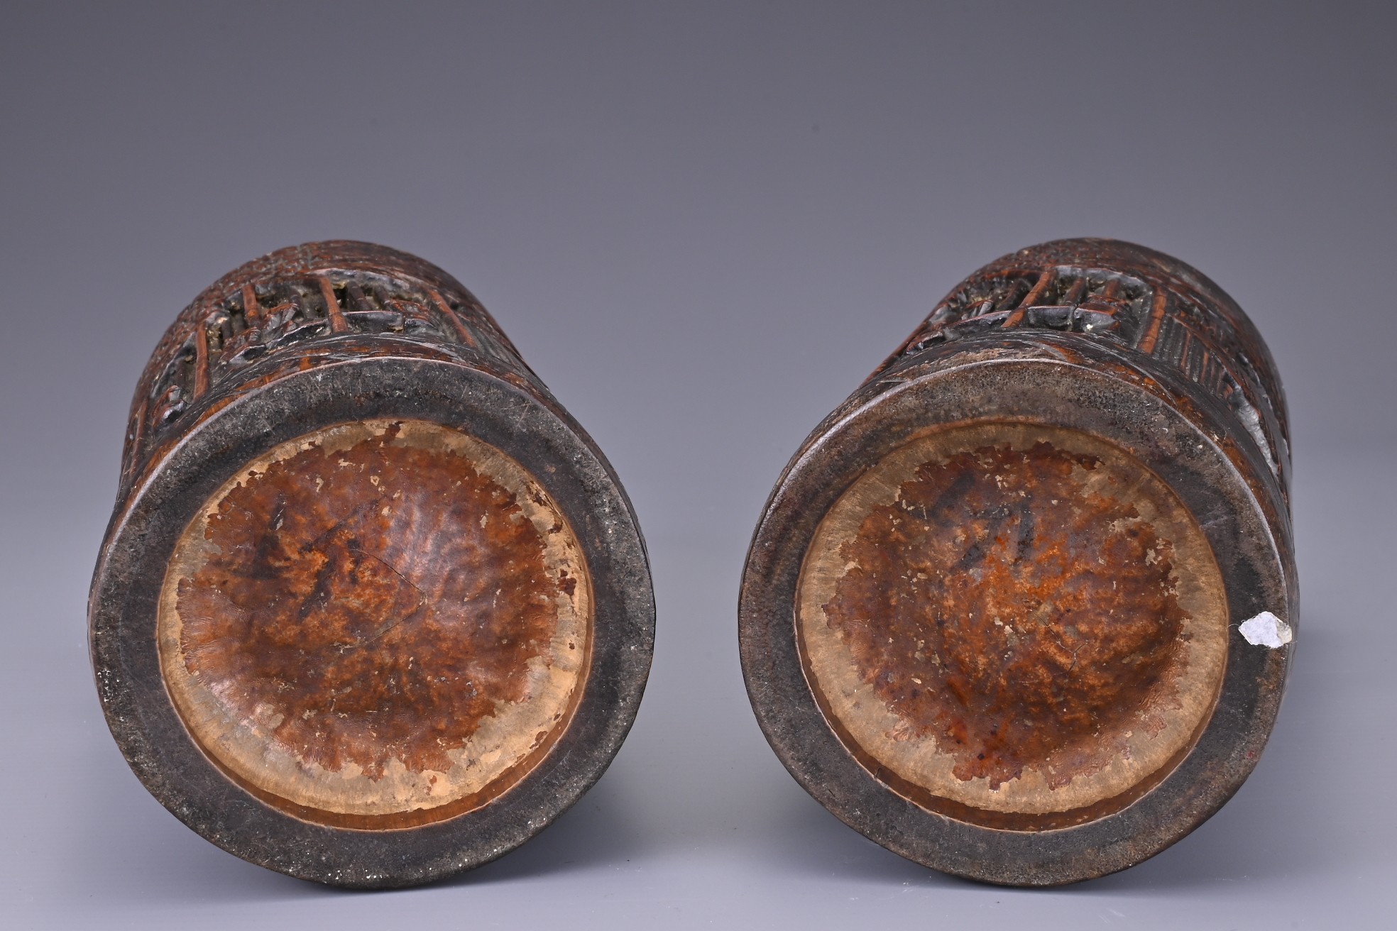
[(865, 473), (816, 533), (799, 620), (817, 698), (875, 775), (1023, 829), (1154, 784), (1206, 723), (1227, 643), (1173, 494), (1027, 424), (940, 430)]

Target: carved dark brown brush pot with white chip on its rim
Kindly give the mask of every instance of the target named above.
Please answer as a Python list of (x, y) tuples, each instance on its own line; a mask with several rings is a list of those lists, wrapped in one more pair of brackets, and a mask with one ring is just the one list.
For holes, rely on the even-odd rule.
[(928, 867), (1099, 877), (1256, 766), (1296, 624), (1285, 406), (1242, 310), (1112, 240), (979, 269), (787, 466), (742, 663), (777, 755)]

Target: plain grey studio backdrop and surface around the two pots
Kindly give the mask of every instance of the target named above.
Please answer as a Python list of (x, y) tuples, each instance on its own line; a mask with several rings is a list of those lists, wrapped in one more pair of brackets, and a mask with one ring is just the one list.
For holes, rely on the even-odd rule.
[[(8, 927), (1389, 924), (1397, 17), (1383, 4), (6, 4), (0, 916)], [(963, 275), (1116, 236), (1255, 317), (1305, 617), (1255, 776), (1155, 860), (979, 886), (863, 840), (747, 708), (771, 483)], [(615, 765), (514, 854), (344, 893), (236, 860), (126, 768), (85, 596), (175, 313), (271, 248), (448, 269), (606, 451), (659, 606)]]

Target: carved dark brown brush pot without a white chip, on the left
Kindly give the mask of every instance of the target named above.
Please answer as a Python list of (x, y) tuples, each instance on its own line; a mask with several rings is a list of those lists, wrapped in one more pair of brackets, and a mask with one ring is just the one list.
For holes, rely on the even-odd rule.
[(636, 516), (446, 272), (285, 248), (165, 334), (92, 582), (108, 723), (215, 844), (344, 886), (486, 863), (601, 776), (654, 645)]

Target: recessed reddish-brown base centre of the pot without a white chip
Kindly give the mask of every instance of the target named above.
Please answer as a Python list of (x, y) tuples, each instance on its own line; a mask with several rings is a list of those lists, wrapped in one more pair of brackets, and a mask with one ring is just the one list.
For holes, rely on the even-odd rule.
[(224, 486), (161, 600), (166, 687), (204, 751), (313, 821), (422, 824), (538, 762), (585, 676), (591, 595), (513, 459), (425, 422), (320, 430)]

